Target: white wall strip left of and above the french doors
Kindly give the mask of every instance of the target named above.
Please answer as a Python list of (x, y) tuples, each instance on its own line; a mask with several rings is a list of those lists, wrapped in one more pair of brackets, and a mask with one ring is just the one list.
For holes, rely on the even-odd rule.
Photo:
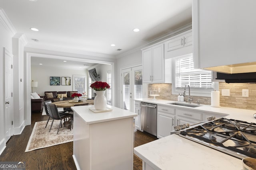
[(115, 64), (115, 103), (114, 106), (120, 107), (120, 86), (121, 86), (121, 69), (132, 67), (138, 64), (142, 64), (142, 51), (140, 49), (124, 55), (116, 60)]

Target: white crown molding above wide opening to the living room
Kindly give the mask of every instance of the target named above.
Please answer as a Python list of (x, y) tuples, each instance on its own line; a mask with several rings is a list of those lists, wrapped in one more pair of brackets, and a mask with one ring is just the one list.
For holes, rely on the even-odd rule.
[[(40, 43), (40, 42), (38, 42)], [(54, 47), (51, 46), (49, 47), (48, 45), (31, 45), (31, 44), (27, 44), (26, 47), (29, 48), (35, 48), (35, 49), (43, 49), (43, 50), (51, 50), (51, 51), (61, 51), (64, 53), (73, 53), (73, 54), (80, 54), (80, 55), (88, 55), (88, 56), (93, 56), (93, 57), (104, 57), (104, 58), (110, 58), (110, 59), (116, 59), (115, 56), (113, 55), (106, 55), (106, 54), (102, 54), (102, 53), (94, 53), (94, 52), (88, 52), (88, 51), (83, 51), (83, 50), (79, 50), (79, 49), (67, 49), (67, 48), (63, 48), (63, 47)]]

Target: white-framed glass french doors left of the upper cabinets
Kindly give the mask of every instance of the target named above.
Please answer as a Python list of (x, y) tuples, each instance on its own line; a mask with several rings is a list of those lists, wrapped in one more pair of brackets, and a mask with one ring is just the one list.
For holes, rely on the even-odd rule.
[(134, 111), (133, 99), (142, 98), (142, 66), (121, 71), (121, 108)]

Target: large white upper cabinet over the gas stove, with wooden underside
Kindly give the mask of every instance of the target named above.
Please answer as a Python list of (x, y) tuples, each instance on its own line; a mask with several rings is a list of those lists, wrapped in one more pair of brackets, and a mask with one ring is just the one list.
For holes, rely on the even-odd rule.
[[(193, 0), (195, 68), (256, 72), (255, 66), (248, 66), (256, 63), (245, 64), (238, 70), (244, 66), (240, 63), (256, 62), (255, 6), (256, 0)], [(253, 69), (245, 70), (249, 67)]]

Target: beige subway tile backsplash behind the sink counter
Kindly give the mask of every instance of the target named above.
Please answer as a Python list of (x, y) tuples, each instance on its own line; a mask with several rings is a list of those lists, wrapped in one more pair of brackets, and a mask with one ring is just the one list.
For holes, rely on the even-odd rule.
[[(159, 84), (148, 84), (148, 97), (153, 98), (150, 95), (150, 90), (158, 90), (160, 96), (157, 99), (177, 101), (178, 95), (172, 95), (172, 84), (171, 83), (159, 83)], [(222, 96), (222, 89), (230, 89), (230, 96)], [(249, 90), (249, 97), (242, 97), (242, 89)], [(193, 103), (197, 100), (201, 104), (211, 105), (210, 97), (192, 96)], [(188, 102), (188, 98), (184, 98), (185, 102)], [(240, 109), (251, 109), (256, 110), (256, 84), (249, 83), (225, 83), (220, 82), (220, 106), (223, 107), (234, 107)]]

